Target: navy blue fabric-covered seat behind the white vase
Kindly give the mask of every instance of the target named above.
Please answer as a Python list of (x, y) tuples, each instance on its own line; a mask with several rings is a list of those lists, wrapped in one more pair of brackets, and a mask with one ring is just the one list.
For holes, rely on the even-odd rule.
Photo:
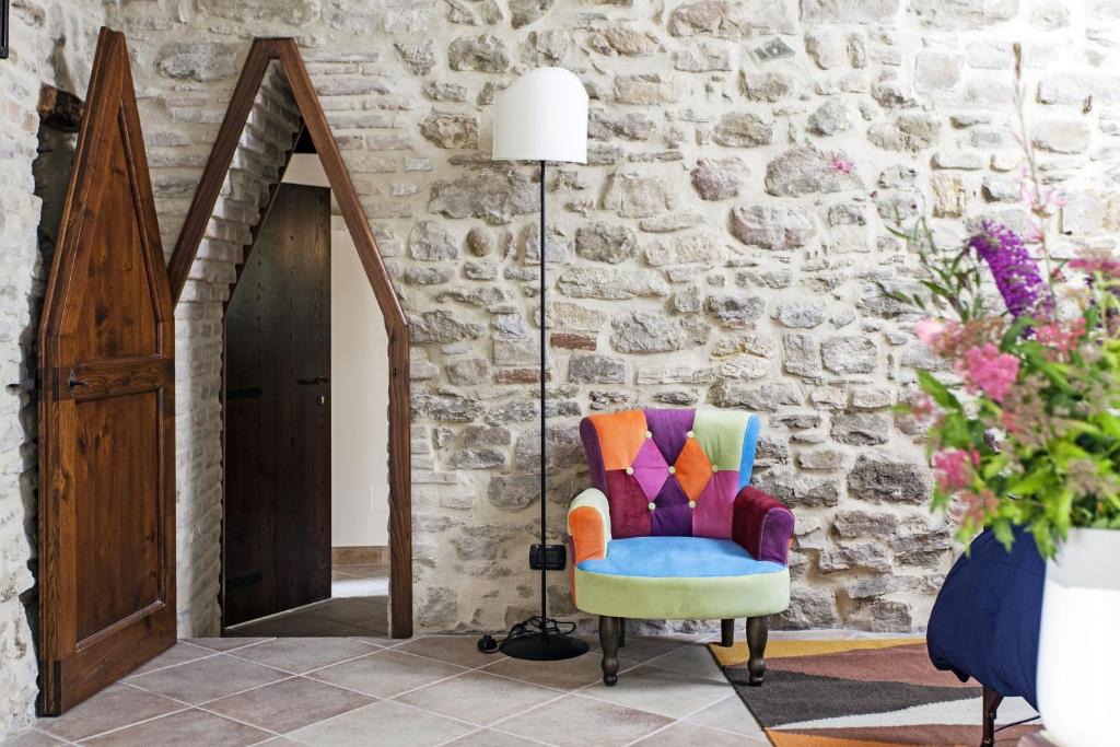
[(949, 571), (930, 616), (930, 661), (1038, 708), (1035, 670), (1046, 566), (1034, 538), (1015, 530), (1007, 552), (986, 531)]

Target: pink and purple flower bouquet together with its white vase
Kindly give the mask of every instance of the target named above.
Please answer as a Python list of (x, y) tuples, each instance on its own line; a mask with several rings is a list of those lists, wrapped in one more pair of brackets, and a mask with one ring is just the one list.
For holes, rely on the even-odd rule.
[(933, 506), (965, 542), (1032, 533), (1047, 559), (1037, 702), (1056, 744), (1095, 747), (1111, 744), (1120, 691), (1120, 260), (1053, 258), (1062, 197), (1042, 184), (1016, 90), (1026, 227), (984, 221), (943, 252), (920, 222), (899, 235), (922, 289), (887, 292), (924, 312), (915, 333), (942, 364), (918, 372), (924, 395), (905, 408), (930, 421)]

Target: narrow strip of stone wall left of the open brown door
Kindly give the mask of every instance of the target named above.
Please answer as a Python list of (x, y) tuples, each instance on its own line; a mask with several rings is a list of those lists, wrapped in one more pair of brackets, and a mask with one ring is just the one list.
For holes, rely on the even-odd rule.
[(37, 185), (35, 164), (41, 149), (65, 174), (74, 144), (64, 132), (40, 142), (37, 105), (45, 84), (85, 95), (102, 22), (94, 0), (15, 0), (11, 10), (10, 57), (0, 60), (0, 743), (28, 722), (37, 694), (38, 415), (26, 384), (58, 217), (39, 195), (58, 185)]

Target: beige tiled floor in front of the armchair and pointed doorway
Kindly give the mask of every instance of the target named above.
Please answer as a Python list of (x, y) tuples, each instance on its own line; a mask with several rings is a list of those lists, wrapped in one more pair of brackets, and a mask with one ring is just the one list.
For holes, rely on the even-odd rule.
[(703, 639), (629, 636), (609, 689), (591, 644), (548, 663), (482, 654), (474, 636), (183, 641), (10, 744), (768, 744)]

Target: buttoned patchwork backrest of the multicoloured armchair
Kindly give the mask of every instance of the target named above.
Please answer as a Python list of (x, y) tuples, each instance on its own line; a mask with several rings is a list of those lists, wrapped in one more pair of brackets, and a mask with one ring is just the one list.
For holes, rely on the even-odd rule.
[(762, 427), (725, 410), (627, 410), (584, 418), (591, 484), (610, 534), (730, 539), (735, 496), (750, 482)]

